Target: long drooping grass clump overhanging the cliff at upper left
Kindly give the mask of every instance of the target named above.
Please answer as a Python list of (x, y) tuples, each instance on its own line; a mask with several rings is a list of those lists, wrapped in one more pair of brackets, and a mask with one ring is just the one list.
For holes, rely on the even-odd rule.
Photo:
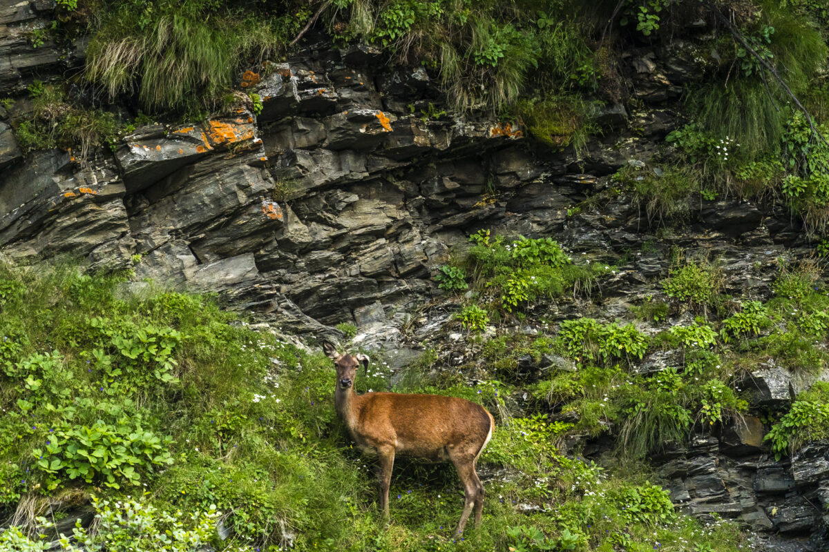
[(105, 9), (85, 67), (85, 79), (109, 97), (134, 95), (154, 112), (216, 105), (240, 68), (282, 51), (304, 17), (302, 11), (272, 17), (172, 2), (155, 9), (152, 17), (118, 4)]

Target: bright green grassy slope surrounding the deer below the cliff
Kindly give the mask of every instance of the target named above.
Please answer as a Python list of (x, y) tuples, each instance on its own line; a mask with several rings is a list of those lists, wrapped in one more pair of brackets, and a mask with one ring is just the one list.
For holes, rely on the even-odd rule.
[[(547, 242), (521, 241), (513, 254), (521, 266), (564, 264)], [(91, 501), (100, 518), (95, 532), (66, 535), (75, 543), (63, 540), (63, 550), (587, 550), (694, 540), (736, 552), (741, 543), (733, 526), (676, 515), (641, 475), (608, 475), (559, 454), (554, 444), (573, 425), (521, 410), (511, 384), (442, 377), (395, 389), (487, 406), (498, 421), (481, 465), (511, 475), (487, 483), (482, 528), (453, 542), (461, 502), (452, 469), (401, 463), (384, 528), (371, 470), (337, 421), (321, 353), (249, 329), (206, 298), (119, 299), (119, 276), (73, 267), (3, 267), (0, 276), (0, 517), (27, 512), (0, 533), (0, 550), (42, 550), (31, 531), (50, 526), (37, 517), (50, 497)], [(541, 358), (555, 343), (526, 346)], [(388, 388), (388, 377), (372, 367), (357, 385)], [(217, 538), (220, 519), (226, 540)]]

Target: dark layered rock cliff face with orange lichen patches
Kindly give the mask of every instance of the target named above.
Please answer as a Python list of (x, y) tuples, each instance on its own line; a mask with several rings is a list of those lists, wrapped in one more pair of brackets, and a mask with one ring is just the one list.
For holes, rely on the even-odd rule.
[[(25, 39), (43, 23), (42, 8), (17, 2), (0, 11), (0, 96), (58, 79), (82, 60), (82, 41), (66, 51)], [(703, 201), (685, 230), (657, 233), (609, 178), (650, 161), (681, 124), (671, 101), (695, 74), (681, 46), (630, 52), (625, 73), (642, 108), (598, 113), (604, 135), (583, 152), (541, 150), (520, 126), (486, 117), (430, 118), (440, 95), (425, 70), (388, 65), (370, 47), (313, 40), (286, 63), (245, 73), (245, 88), (262, 98), (258, 116), (240, 103), (206, 121), (139, 127), (88, 160), (56, 150), (24, 158), (0, 122), (0, 247), (18, 262), (69, 254), (99, 267), (131, 266), (140, 255), (135, 289), (152, 279), (221, 291), (235, 308), (301, 333), (356, 324), (362, 343), (382, 348), (401, 347), (400, 325), (436, 291), (436, 266), (479, 228), (551, 236), (577, 261), (619, 263), (600, 299), (560, 301), (550, 323), (629, 316), (636, 300), (662, 293), (671, 247), (719, 258), (730, 293), (768, 298), (774, 260), (809, 254), (788, 212)], [(443, 313), (425, 311), (406, 339), (433, 338)], [(653, 356), (642, 369), (670, 362), (671, 353)], [(746, 385), (756, 404), (771, 404), (791, 401), (804, 385), (796, 380), (769, 366)], [(672, 498), (697, 515), (825, 545), (829, 453), (811, 447), (777, 463), (762, 434), (747, 416), (657, 458)], [(601, 445), (587, 441), (585, 454), (598, 458)]]

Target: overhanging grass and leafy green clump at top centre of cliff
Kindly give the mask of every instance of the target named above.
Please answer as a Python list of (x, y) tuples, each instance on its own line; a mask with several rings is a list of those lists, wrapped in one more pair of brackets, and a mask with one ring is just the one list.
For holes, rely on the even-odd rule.
[[(545, 9), (549, 23), (540, 26)], [(332, 7), (328, 17), (335, 33), (387, 46), (396, 60), (437, 70), (452, 108), (497, 113), (535, 85), (543, 84), (544, 95), (574, 83), (570, 75), (592, 53), (584, 39), (588, 30), (574, 24), (571, 12), (570, 2), (453, 0), (435, 7), (422, 0), (356, 0), (347, 9)]]

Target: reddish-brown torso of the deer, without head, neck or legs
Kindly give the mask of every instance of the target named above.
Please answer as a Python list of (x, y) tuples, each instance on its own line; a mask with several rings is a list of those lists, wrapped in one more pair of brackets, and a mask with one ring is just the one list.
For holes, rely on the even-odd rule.
[(486, 409), (453, 396), (366, 393), (358, 423), (370, 448), (391, 444), (395, 453), (433, 462), (450, 449), (476, 456), (492, 430)]

